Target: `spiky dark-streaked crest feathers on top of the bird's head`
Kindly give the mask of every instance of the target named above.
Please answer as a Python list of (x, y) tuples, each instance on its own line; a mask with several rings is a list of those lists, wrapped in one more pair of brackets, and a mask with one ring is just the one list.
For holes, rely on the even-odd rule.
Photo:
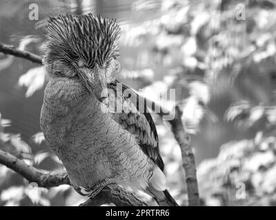
[(68, 63), (82, 58), (87, 67), (102, 66), (111, 57), (119, 56), (117, 40), (120, 28), (115, 19), (72, 14), (50, 17), (46, 26), (48, 57)]

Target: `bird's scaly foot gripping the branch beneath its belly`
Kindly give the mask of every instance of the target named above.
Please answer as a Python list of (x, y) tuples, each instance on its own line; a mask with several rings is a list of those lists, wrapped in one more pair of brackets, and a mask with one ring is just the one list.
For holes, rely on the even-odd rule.
[(103, 179), (97, 183), (93, 188), (83, 188), (83, 187), (78, 187), (77, 192), (79, 192), (81, 195), (86, 195), (90, 198), (95, 198), (103, 188), (110, 184), (117, 184), (118, 181), (115, 178), (108, 178), (108, 179)]

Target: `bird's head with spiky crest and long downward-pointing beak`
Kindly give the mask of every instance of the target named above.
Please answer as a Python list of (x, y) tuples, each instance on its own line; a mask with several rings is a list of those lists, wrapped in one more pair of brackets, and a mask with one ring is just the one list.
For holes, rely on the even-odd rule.
[(99, 98), (121, 70), (119, 34), (113, 19), (92, 14), (50, 17), (43, 56), (48, 75), (78, 80)]

